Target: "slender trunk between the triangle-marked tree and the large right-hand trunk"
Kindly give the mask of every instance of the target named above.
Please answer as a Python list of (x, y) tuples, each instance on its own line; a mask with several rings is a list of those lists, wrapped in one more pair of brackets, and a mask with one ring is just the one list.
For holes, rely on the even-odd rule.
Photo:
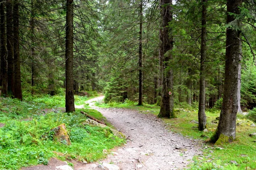
[(207, 0), (202, 0), (202, 31), (201, 31), (201, 67), (200, 67), (200, 92), (198, 106), (198, 130), (206, 128), (205, 115), (205, 59), (206, 59), (206, 17), (207, 17)]

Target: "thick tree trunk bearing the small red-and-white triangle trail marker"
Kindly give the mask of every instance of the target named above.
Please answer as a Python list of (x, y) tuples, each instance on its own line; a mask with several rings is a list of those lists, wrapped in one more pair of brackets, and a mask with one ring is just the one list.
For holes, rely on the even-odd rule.
[(169, 23), (172, 21), (172, 0), (160, 0), (163, 18), (163, 88), (158, 117), (174, 118), (174, 93), (173, 93), (173, 75), (169, 61), (172, 60), (172, 54), (166, 55), (167, 51), (173, 49), (172, 28)]

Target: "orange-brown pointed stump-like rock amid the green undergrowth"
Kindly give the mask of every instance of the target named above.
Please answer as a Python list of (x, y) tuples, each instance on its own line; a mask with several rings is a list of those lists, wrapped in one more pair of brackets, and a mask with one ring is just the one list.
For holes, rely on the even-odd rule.
[(53, 140), (58, 141), (62, 144), (71, 145), (70, 137), (67, 134), (66, 126), (65, 124), (61, 124), (57, 127), (52, 128), (49, 132), (53, 132)]

